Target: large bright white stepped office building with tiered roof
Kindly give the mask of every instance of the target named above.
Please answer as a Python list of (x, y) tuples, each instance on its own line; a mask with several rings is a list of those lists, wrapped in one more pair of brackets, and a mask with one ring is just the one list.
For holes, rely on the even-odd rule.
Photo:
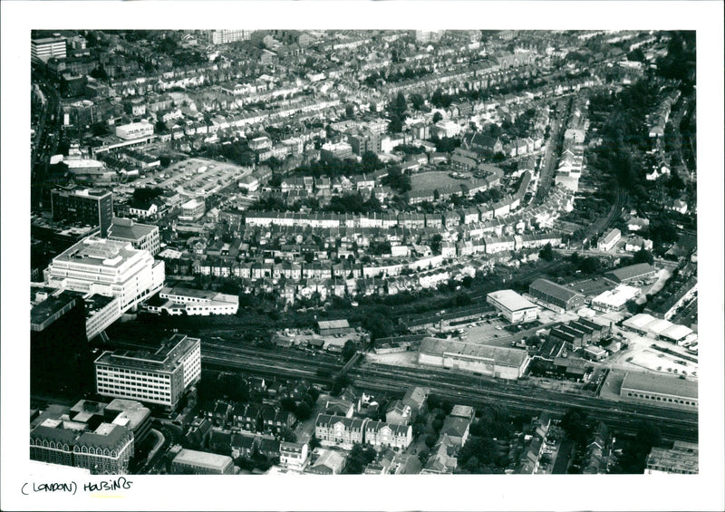
[(164, 264), (128, 242), (88, 237), (53, 258), (44, 276), (53, 288), (117, 297), (123, 313), (161, 289)]

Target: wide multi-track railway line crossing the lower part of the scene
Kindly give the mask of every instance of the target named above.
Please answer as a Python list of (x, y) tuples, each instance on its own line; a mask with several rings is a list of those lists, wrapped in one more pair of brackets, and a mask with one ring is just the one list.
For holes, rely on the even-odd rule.
[[(140, 348), (139, 343), (112, 343)], [(146, 348), (149, 348), (148, 346)], [(265, 377), (306, 379), (329, 384), (342, 362), (325, 354), (275, 351), (257, 346), (240, 346), (225, 340), (203, 341), (202, 366), (208, 369), (237, 370)], [(649, 404), (609, 401), (593, 395), (577, 395), (528, 386), (520, 382), (501, 382), (493, 378), (437, 368), (412, 368), (362, 362), (353, 366), (350, 377), (364, 389), (401, 393), (403, 386), (420, 385), (449, 401), (474, 407), (505, 405), (509, 411), (537, 414), (548, 411), (561, 417), (567, 409), (578, 407), (590, 417), (603, 420), (617, 432), (635, 433), (643, 420), (660, 427), (668, 440), (696, 441), (698, 415), (691, 411), (670, 410)]]

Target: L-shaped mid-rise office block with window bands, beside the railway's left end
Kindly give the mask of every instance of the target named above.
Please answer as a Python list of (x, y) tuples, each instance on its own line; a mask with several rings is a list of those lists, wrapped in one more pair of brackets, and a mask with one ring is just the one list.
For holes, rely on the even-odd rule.
[(160, 348), (106, 351), (95, 361), (96, 392), (174, 410), (201, 376), (201, 341), (174, 334)]

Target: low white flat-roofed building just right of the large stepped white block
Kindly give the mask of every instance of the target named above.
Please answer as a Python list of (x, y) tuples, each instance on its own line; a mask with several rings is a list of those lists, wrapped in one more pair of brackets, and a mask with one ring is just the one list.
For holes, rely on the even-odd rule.
[(170, 315), (237, 314), (238, 295), (220, 294), (193, 288), (161, 288), (158, 297), (151, 297), (146, 303), (150, 313), (166, 312)]

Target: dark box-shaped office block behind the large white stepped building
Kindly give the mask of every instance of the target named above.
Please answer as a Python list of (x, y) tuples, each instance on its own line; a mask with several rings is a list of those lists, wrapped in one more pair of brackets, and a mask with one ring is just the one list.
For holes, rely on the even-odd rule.
[(94, 188), (56, 188), (51, 192), (51, 212), (53, 220), (99, 226), (106, 237), (113, 218), (113, 194)]

